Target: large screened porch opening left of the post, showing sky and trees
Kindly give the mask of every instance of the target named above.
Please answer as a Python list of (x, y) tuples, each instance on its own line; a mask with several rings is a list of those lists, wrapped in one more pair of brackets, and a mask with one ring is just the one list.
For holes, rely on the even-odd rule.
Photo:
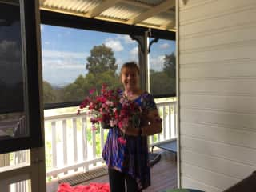
[(121, 86), (122, 64), (138, 62), (138, 43), (126, 34), (50, 25), (41, 25), (41, 31), (46, 108), (80, 102), (102, 83)]

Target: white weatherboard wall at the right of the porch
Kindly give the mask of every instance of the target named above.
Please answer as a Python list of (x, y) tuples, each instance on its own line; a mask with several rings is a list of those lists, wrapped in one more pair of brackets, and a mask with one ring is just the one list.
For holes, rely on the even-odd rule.
[(181, 186), (222, 191), (256, 170), (256, 1), (177, 2)]

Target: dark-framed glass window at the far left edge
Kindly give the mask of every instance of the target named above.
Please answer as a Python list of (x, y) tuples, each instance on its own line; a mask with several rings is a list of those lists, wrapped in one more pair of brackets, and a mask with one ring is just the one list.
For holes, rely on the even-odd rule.
[(42, 146), (34, 10), (0, 2), (0, 153)]

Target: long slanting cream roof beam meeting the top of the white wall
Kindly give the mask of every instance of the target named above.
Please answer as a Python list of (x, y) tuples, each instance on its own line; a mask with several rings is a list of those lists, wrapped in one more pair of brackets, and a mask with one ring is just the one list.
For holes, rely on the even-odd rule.
[(166, 0), (166, 2), (162, 2), (158, 6), (154, 6), (150, 10), (147, 10), (145, 13), (139, 14), (135, 18), (130, 18), (127, 21), (127, 23), (135, 25), (139, 22), (142, 22), (142, 21), (146, 20), (147, 18), (151, 18), (154, 15), (162, 13), (162, 12), (164, 12), (164, 11), (170, 9), (171, 7), (174, 7), (174, 6), (175, 6), (175, 1), (174, 0)]

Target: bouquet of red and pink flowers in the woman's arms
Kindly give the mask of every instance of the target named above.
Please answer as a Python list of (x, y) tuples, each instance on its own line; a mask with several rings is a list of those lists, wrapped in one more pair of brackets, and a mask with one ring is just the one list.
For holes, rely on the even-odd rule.
[[(102, 85), (100, 94), (97, 94), (96, 89), (93, 88), (89, 91), (89, 96), (80, 104), (77, 114), (82, 110), (88, 110), (87, 114), (91, 115), (90, 122), (93, 124), (93, 130), (98, 130), (99, 124), (103, 128), (123, 129), (129, 123), (138, 127), (142, 109), (136, 102), (130, 101), (121, 93), (122, 90), (110, 89), (106, 84)], [(124, 134), (119, 138), (119, 142), (126, 143)]]

